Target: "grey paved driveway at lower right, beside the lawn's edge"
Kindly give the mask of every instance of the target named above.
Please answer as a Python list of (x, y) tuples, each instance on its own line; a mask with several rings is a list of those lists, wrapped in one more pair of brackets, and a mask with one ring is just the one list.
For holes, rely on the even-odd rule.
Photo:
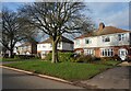
[(99, 73), (90, 80), (81, 81), (81, 83), (94, 86), (99, 89), (129, 89), (130, 69), (130, 67), (116, 67), (108, 69), (107, 71)]

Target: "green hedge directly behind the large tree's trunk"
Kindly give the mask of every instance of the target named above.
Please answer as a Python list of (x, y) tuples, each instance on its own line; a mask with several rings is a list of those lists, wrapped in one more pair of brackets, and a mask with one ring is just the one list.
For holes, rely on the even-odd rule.
[[(58, 53), (58, 59), (59, 61), (70, 61), (73, 53)], [(51, 60), (52, 58), (52, 53), (49, 53), (46, 55), (45, 60)]]

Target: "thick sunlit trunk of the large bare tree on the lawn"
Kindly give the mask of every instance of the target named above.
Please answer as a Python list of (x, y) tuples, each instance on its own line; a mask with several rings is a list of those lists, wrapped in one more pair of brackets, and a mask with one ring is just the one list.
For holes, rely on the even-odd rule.
[(52, 41), (52, 60), (51, 62), (58, 62), (57, 43)]

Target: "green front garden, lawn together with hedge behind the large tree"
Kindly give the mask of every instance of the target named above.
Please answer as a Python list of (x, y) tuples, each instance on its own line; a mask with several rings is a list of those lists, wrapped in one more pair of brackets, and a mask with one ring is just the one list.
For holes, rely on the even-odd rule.
[[(37, 58), (20, 59), (15, 58), (16, 62), (8, 64), (5, 66), (33, 71), (35, 73), (48, 75), (57, 78), (62, 78), (69, 81), (87, 80), (109, 68), (116, 67), (120, 61), (116, 60), (87, 60), (80, 61), (83, 58), (71, 57), (71, 53), (59, 54), (60, 62), (51, 64), (50, 54), (45, 60)], [(80, 58), (80, 60), (79, 60)], [(5, 58), (3, 59), (5, 60)], [(8, 59), (7, 59), (8, 60)], [(26, 61), (27, 60), (27, 61)], [(31, 60), (31, 61), (28, 61)]]

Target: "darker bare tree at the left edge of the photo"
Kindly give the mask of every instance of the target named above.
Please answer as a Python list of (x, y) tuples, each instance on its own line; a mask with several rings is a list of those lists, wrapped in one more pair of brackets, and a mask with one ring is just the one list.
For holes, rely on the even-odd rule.
[(0, 42), (10, 52), (10, 57), (13, 58), (15, 44), (33, 35), (33, 31), (29, 31), (32, 26), (23, 22), (17, 12), (10, 11), (7, 8), (2, 8), (1, 25), (2, 37)]

